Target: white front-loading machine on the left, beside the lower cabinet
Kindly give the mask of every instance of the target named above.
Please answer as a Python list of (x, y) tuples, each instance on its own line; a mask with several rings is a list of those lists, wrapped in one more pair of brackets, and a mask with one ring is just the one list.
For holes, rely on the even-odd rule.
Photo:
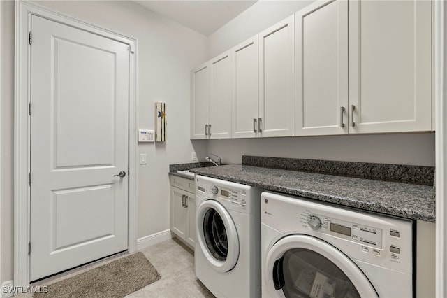
[(216, 297), (261, 296), (261, 190), (196, 176), (196, 276)]

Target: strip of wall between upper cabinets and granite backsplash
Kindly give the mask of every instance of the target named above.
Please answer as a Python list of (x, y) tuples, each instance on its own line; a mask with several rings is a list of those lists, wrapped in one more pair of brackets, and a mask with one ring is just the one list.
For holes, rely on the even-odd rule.
[(212, 140), (208, 152), (226, 164), (240, 164), (242, 155), (255, 155), (434, 166), (434, 134)]

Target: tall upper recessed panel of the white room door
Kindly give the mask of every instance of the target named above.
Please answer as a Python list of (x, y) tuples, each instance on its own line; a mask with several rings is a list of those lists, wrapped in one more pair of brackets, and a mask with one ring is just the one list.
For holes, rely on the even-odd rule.
[(55, 167), (113, 164), (115, 53), (61, 38), (53, 48)]

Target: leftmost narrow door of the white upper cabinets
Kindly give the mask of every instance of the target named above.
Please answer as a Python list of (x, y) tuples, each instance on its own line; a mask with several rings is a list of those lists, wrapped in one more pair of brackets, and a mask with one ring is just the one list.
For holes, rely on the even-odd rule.
[[(207, 139), (210, 124), (210, 75), (208, 64), (191, 71), (191, 139)], [(206, 126), (205, 126), (206, 125)]]

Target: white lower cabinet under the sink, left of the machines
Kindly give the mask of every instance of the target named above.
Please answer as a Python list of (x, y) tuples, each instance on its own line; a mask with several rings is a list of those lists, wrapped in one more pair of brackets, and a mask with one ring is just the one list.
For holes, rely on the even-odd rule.
[(170, 177), (170, 230), (194, 248), (196, 244), (196, 196), (194, 181)]

